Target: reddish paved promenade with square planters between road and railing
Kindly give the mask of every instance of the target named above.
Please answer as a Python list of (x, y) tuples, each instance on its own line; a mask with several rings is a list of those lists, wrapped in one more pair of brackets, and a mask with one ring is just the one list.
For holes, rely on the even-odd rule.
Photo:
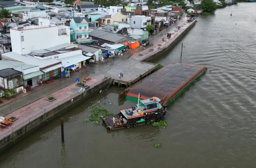
[[(102, 79), (102, 78), (92, 77), (91, 80), (86, 81), (86, 85), (91, 85), (100, 79)], [(23, 120), (27, 119), (29, 116), (32, 116), (33, 114), (36, 114), (40, 110), (44, 109), (44, 107), (50, 106), (51, 104), (54, 104), (56, 101), (66, 98), (67, 96), (69, 96), (72, 93), (77, 92), (78, 90), (80, 90), (80, 87), (76, 86), (76, 83), (73, 83), (73, 84), (71, 84), (63, 89), (60, 89), (48, 96), (45, 96), (44, 98), (41, 98), (35, 102), (32, 102), (32, 103), (28, 104), (27, 106), (24, 106), (16, 111), (8, 114), (5, 117), (10, 118), (10, 117), (14, 116), (14, 117), (18, 118), (18, 120), (13, 122), (13, 125), (16, 125), (19, 122), (22, 122)], [(54, 97), (54, 98), (56, 98), (56, 100), (49, 102), (46, 100), (49, 97)], [(0, 128), (0, 133), (6, 131), (8, 128), (10, 128), (10, 126), (6, 127), (6, 128)]]

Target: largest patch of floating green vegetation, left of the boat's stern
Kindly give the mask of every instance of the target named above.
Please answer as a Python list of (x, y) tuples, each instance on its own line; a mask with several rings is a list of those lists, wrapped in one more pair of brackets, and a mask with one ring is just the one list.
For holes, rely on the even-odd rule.
[(95, 104), (92, 106), (89, 120), (92, 121), (93, 125), (98, 125), (103, 118), (110, 116), (114, 116), (114, 114), (109, 113), (107, 109), (102, 108), (99, 104)]

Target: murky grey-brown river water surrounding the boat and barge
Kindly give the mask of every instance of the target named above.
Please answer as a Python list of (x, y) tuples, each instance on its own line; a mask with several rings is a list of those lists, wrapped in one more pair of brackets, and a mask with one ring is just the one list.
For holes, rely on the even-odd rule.
[[(201, 16), (188, 34), (155, 60), (207, 66), (208, 72), (168, 107), (166, 129), (151, 125), (108, 131), (84, 123), (93, 102), (112, 113), (111, 87), (50, 122), (0, 156), (1, 168), (252, 168), (256, 165), (256, 3)], [(232, 16), (230, 13), (232, 12)], [(181, 44), (183, 53), (180, 58)], [(110, 104), (110, 102), (112, 104)], [(160, 148), (154, 143), (162, 143)]]

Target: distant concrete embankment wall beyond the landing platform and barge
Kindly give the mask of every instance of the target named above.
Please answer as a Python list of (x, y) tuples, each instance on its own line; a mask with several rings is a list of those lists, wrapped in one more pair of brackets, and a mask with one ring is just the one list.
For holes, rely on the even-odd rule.
[(186, 35), (186, 33), (192, 28), (194, 27), (194, 25), (196, 24), (196, 20), (194, 20), (183, 32), (181, 32), (174, 40), (173, 42), (171, 42), (168, 46), (163, 47), (159, 52), (157, 52), (156, 54), (152, 54), (151, 56), (148, 56), (147, 58), (142, 59), (141, 61), (145, 61), (145, 62), (149, 62), (150, 60), (152, 60), (153, 58), (155, 58), (156, 56), (160, 56), (161, 54), (164, 54), (166, 52), (168, 52), (169, 50), (171, 50), (179, 41), (180, 39)]

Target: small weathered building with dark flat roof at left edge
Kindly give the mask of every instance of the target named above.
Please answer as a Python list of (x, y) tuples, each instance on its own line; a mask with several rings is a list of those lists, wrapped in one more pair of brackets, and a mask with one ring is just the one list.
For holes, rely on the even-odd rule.
[(22, 72), (11, 68), (0, 70), (0, 88), (5, 91), (16, 90), (17, 93), (22, 92), (24, 89)]

